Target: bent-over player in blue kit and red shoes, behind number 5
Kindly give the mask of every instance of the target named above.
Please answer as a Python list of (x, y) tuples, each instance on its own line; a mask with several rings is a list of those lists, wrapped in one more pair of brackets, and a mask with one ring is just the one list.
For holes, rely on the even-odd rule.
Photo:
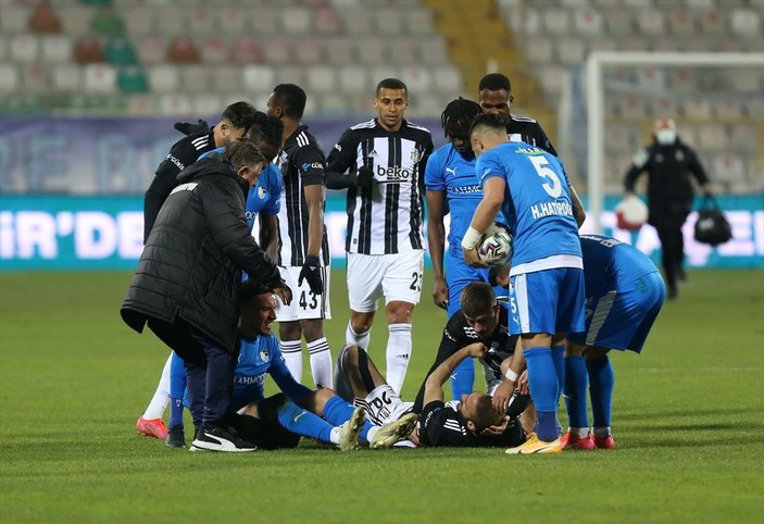
[[(565, 404), (569, 429), (565, 449), (615, 448), (610, 433), (615, 376), (611, 349), (640, 353), (663, 305), (666, 290), (652, 261), (637, 248), (600, 235), (580, 237), (586, 288), (586, 332), (568, 334), (565, 349)], [(496, 284), (506, 286), (510, 265), (491, 269)], [(588, 380), (576, 380), (573, 366), (584, 367)], [(589, 433), (586, 389), (589, 383), (593, 435)]]

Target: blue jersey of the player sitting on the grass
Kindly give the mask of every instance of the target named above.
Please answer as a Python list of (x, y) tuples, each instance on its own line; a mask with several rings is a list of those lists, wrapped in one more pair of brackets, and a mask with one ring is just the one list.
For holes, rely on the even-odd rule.
[(298, 400), (312, 391), (295, 380), (281, 354), (276, 335), (259, 336), (252, 340), (240, 337), (239, 361), (234, 373), (231, 411), (265, 398), (265, 374), (268, 373), (290, 400)]

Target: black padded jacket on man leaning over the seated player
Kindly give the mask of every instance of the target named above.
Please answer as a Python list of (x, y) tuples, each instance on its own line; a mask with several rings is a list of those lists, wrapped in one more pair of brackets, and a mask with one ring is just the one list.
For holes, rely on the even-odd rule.
[(248, 191), (220, 153), (178, 175), (122, 304), (127, 325), (140, 333), (149, 319), (180, 319), (234, 351), (241, 270), (270, 286), (281, 282), (247, 227)]

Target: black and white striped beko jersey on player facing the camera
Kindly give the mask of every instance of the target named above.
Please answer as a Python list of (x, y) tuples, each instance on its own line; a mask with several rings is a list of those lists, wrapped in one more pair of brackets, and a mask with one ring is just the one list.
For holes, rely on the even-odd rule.
[(401, 253), (424, 249), (423, 180), (433, 137), (424, 127), (403, 120), (396, 133), (376, 118), (347, 129), (327, 160), (328, 171), (374, 172), (371, 190), (348, 190), (348, 252)]

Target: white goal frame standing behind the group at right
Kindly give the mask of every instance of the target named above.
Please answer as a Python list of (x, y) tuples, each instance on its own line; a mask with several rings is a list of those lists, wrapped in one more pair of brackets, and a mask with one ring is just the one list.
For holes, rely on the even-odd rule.
[(602, 233), (606, 66), (764, 67), (764, 53), (593, 51), (586, 61), (587, 187), (593, 229)]

